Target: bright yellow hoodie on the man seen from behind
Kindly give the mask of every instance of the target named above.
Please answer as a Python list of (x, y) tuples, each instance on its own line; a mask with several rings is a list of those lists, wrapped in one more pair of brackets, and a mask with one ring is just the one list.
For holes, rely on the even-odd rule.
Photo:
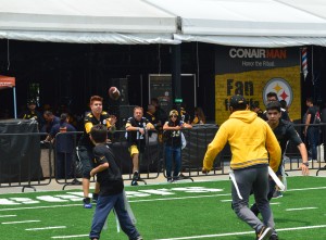
[(209, 144), (203, 167), (212, 169), (216, 155), (228, 141), (231, 150), (231, 169), (244, 168), (258, 164), (268, 164), (274, 172), (280, 163), (279, 143), (266, 122), (251, 111), (235, 111), (223, 123), (215, 138)]

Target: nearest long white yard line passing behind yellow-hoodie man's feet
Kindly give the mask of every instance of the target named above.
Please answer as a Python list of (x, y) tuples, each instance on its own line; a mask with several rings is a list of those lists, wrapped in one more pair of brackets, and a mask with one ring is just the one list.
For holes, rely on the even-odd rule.
[[(305, 230), (305, 229), (313, 229), (313, 228), (326, 228), (326, 225), (296, 227), (296, 228), (281, 228), (281, 229), (276, 229), (276, 230), (277, 231), (291, 231), (291, 230)], [(220, 235), (201, 235), (201, 236), (180, 237), (180, 238), (164, 238), (164, 239), (155, 239), (155, 240), (203, 239), (203, 238), (218, 238), (218, 237), (239, 236), (239, 235), (254, 235), (254, 231), (227, 232), (227, 233), (220, 233)]]

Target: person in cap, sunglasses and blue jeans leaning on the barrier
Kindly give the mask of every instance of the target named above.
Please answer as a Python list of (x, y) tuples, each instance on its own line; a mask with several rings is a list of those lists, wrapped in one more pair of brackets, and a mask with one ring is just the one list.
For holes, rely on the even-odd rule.
[[(168, 114), (170, 119), (164, 124), (164, 151), (165, 168), (167, 181), (178, 180), (181, 169), (181, 131), (183, 128), (192, 128), (190, 124), (185, 123), (178, 116), (178, 111), (172, 110)], [(174, 161), (174, 170), (172, 176), (172, 164)]]

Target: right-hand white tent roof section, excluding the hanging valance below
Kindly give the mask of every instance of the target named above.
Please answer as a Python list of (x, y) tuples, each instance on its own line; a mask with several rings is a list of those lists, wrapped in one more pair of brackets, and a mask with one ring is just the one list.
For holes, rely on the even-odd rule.
[(299, 5), (297, 0), (149, 1), (181, 16), (184, 35), (326, 37), (326, 4), (321, 0), (299, 0)]

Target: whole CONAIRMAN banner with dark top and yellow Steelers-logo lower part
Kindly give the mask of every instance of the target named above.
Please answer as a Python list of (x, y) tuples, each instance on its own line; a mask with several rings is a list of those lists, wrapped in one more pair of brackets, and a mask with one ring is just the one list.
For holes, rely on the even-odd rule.
[(301, 118), (300, 53), (297, 48), (216, 49), (215, 121), (222, 124), (229, 116), (228, 99), (242, 94), (250, 104), (265, 110), (266, 94), (276, 92), (289, 106), (291, 119)]

